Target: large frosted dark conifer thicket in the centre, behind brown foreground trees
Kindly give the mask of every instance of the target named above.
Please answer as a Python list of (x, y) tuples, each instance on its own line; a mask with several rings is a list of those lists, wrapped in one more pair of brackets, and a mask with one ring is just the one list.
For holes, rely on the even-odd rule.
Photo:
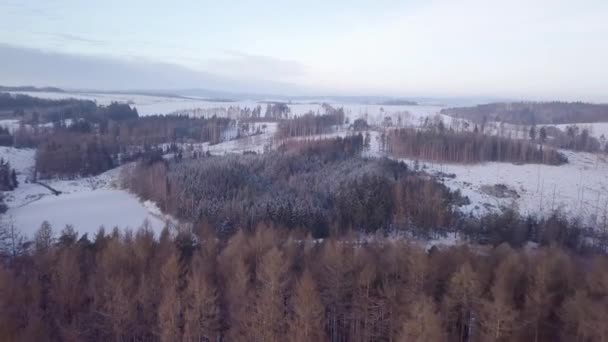
[(269, 221), (325, 236), (402, 226), (445, 227), (459, 196), (388, 159), (358, 157), (363, 137), (292, 141), (264, 155), (140, 163), (125, 185), (167, 212), (221, 230)]

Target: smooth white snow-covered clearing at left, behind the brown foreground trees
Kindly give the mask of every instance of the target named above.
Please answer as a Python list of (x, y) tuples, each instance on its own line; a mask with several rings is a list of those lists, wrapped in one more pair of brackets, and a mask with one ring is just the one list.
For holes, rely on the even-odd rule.
[(100, 226), (106, 231), (139, 228), (144, 221), (158, 234), (170, 219), (160, 214), (152, 203), (142, 203), (136, 196), (116, 187), (119, 169), (95, 177), (77, 180), (50, 180), (44, 184), (61, 191), (54, 195), (46, 187), (31, 182), (35, 151), (0, 147), (0, 157), (8, 160), (17, 172), (19, 186), (4, 193), (9, 207), (3, 224), (15, 225), (24, 235), (32, 237), (43, 221), (55, 232), (71, 224), (80, 234), (95, 234)]

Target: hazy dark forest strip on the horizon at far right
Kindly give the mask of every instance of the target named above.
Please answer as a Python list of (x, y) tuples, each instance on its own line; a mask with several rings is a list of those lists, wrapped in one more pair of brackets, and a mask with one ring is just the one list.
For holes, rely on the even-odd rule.
[(442, 114), (484, 125), (490, 121), (517, 125), (608, 122), (608, 104), (583, 102), (510, 102), (447, 108)]

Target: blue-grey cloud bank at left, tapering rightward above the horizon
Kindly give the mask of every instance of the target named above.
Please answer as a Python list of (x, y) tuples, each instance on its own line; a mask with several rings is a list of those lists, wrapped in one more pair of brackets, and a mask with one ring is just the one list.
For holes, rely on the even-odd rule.
[(48, 52), (0, 43), (0, 75), (7, 85), (99, 90), (206, 88), (285, 94), (286, 83), (229, 78), (141, 57), (130, 59)]

